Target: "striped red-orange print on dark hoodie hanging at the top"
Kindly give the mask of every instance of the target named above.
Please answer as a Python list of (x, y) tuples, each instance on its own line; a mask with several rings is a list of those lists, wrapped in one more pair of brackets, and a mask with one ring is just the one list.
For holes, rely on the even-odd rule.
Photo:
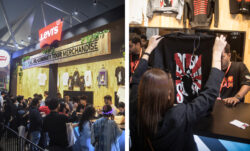
[(207, 14), (208, 0), (194, 0), (194, 16)]

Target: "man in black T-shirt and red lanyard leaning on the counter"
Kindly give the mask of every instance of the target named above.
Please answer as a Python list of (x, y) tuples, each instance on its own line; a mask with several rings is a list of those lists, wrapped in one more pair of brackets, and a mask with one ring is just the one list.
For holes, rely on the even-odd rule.
[(244, 96), (250, 90), (250, 74), (243, 62), (231, 62), (230, 45), (227, 44), (221, 60), (225, 77), (221, 83), (220, 97), (226, 104), (236, 105), (244, 102)]

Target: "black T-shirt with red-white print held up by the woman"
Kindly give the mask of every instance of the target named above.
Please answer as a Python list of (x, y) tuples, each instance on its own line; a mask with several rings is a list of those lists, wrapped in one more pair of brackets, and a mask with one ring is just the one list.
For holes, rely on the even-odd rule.
[(172, 74), (177, 103), (192, 101), (205, 85), (213, 44), (214, 36), (173, 33), (165, 35), (151, 54), (149, 65)]

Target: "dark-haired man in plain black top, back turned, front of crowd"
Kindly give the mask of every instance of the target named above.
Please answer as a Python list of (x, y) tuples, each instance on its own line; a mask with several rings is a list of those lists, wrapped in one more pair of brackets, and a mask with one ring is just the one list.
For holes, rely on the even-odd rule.
[(66, 123), (67, 116), (58, 114), (60, 109), (59, 100), (52, 98), (49, 101), (50, 114), (44, 118), (43, 130), (49, 134), (49, 151), (70, 151), (68, 148)]

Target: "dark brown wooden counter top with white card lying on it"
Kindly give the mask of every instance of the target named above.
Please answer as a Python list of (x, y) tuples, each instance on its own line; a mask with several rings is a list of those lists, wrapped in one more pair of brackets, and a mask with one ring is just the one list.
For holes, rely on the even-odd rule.
[(233, 120), (250, 125), (250, 104), (239, 103), (229, 107), (222, 101), (216, 101), (211, 114), (195, 124), (194, 134), (250, 144), (250, 127), (236, 127), (230, 124)]

